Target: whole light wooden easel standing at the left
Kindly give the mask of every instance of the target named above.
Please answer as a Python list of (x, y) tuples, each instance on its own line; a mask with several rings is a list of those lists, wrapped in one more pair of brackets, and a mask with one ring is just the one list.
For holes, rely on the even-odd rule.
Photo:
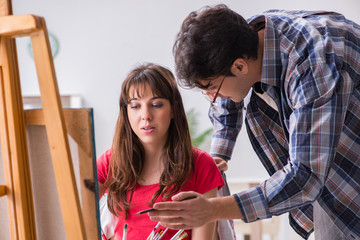
[(37, 69), (51, 158), (67, 239), (87, 239), (67, 131), (45, 20), (12, 15), (10, 0), (0, 0), (0, 133), (12, 239), (36, 239), (25, 117), (19, 80), (16, 37), (29, 36)]

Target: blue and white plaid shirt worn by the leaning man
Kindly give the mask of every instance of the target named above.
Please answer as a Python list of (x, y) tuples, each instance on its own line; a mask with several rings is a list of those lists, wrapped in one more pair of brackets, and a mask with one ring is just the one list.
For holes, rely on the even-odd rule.
[(313, 231), (317, 200), (349, 239), (360, 238), (360, 26), (338, 13), (265, 12), (260, 91), (240, 103), (221, 99), (210, 109), (211, 154), (230, 159), (245, 125), (271, 175), (234, 194), (244, 221), (290, 212), (302, 237)]

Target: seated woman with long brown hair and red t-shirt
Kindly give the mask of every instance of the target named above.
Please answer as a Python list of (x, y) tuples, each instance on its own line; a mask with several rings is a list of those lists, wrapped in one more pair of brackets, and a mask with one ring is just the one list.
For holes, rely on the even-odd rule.
[[(155, 202), (171, 201), (181, 191), (216, 197), (223, 186), (214, 160), (191, 146), (173, 74), (154, 64), (136, 67), (123, 82), (113, 144), (99, 157), (97, 168), (100, 196), (107, 192), (109, 210), (117, 216), (115, 240), (122, 238), (125, 224), (128, 239), (147, 239), (156, 222), (136, 213)], [(215, 225), (185, 232), (188, 239), (209, 240)], [(175, 233), (168, 229), (161, 239)]]

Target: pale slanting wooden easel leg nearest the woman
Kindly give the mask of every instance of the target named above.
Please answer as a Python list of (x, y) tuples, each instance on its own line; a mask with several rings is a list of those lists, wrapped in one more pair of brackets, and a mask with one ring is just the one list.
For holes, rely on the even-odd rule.
[(41, 30), (31, 35), (31, 43), (65, 230), (68, 239), (86, 239), (48, 33), (39, 20)]

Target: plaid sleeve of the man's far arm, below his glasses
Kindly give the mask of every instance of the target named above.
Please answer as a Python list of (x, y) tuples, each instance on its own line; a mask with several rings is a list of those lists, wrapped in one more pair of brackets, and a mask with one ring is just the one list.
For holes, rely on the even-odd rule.
[(214, 126), (210, 155), (230, 160), (237, 135), (242, 127), (243, 101), (218, 99), (219, 106), (209, 109), (209, 118)]

